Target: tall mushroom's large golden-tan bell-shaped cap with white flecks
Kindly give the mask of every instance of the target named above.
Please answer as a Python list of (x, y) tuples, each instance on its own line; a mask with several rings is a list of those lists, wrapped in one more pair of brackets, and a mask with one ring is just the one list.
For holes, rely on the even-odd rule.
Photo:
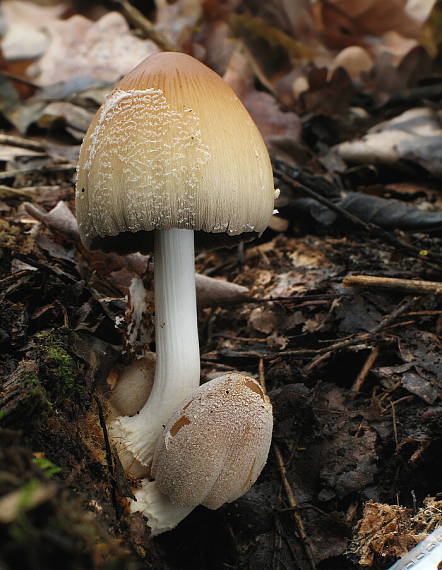
[(135, 67), (81, 147), (76, 208), (89, 248), (147, 252), (154, 229), (259, 234), (273, 202), (255, 123), (230, 86), (186, 54)]

